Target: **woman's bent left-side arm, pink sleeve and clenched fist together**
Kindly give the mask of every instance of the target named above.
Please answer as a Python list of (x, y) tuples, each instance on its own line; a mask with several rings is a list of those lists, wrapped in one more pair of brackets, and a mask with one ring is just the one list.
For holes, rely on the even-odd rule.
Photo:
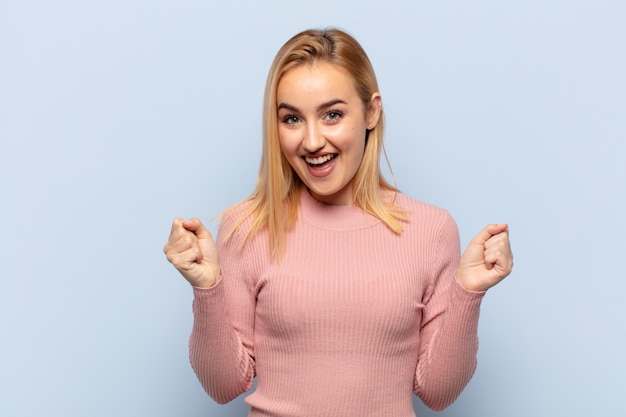
[[(177, 221), (184, 230), (176, 228)], [(239, 248), (240, 235), (236, 232), (228, 242), (222, 239), (222, 231), (230, 227), (227, 216), (217, 245), (199, 220), (174, 223), (165, 251), (193, 286), (191, 365), (205, 391), (224, 404), (248, 391), (254, 380), (255, 297), (248, 284), (246, 257)]]

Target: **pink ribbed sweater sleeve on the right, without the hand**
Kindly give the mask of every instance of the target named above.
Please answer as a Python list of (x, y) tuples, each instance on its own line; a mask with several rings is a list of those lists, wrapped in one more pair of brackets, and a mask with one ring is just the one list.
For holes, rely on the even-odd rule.
[(414, 391), (433, 410), (451, 405), (476, 370), (478, 317), (484, 293), (466, 291), (456, 280), (459, 234), (447, 214), (432, 259), (425, 293)]

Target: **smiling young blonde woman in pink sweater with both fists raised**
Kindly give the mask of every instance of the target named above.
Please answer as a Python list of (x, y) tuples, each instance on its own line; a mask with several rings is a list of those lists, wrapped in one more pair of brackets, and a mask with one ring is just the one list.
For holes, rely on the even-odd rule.
[(414, 416), (450, 405), (476, 367), (485, 291), (513, 260), (507, 225), (460, 257), (456, 224), (381, 176), (382, 100), (339, 30), (289, 40), (269, 72), (257, 187), (217, 244), (177, 218), (164, 251), (191, 283), (192, 366), (250, 416)]

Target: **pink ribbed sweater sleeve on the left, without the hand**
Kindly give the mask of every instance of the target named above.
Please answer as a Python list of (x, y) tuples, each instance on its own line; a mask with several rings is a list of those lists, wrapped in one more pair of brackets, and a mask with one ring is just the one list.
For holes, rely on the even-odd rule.
[(254, 367), (255, 295), (250, 285), (240, 233), (223, 239), (229, 230), (220, 224), (217, 246), (222, 268), (211, 288), (194, 288), (194, 323), (189, 339), (191, 366), (215, 401), (227, 403), (252, 387)]

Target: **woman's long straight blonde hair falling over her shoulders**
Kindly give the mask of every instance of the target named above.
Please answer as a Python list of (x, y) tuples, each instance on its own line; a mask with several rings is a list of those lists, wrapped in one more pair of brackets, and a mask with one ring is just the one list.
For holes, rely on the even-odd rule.
[[(369, 106), (372, 94), (378, 92), (376, 75), (367, 54), (352, 36), (339, 29), (306, 30), (292, 37), (276, 54), (265, 84), (263, 150), (256, 189), (245, 200), (250, 203), (248, 209), (227, 236), (230, 237), (252, 216), (246, 236), (249, 238), (267, 228), (270, 256), (274, 260), (280, 260), (284, 252), (285, 231), (296, 221), (302, 189), (300, 178), (280, 149), (276, 91), (287, 71), (316, 62), (327, 62), (347, 71), (354, 79), (365, 107)], [(398, 190), (380, 172), (381, 151), (384, 153), (383, 130), (381, 114), (376, 126), (367, 133), (363, 160), (353, 181), (353, 199), (356, 206), (399, 234), (402, 232), (401, 222), (406, 221), (406, 216), (402, 208), (395, 205)], [(386, 199), (383, 194), (390, 194), (392, 198)]]

